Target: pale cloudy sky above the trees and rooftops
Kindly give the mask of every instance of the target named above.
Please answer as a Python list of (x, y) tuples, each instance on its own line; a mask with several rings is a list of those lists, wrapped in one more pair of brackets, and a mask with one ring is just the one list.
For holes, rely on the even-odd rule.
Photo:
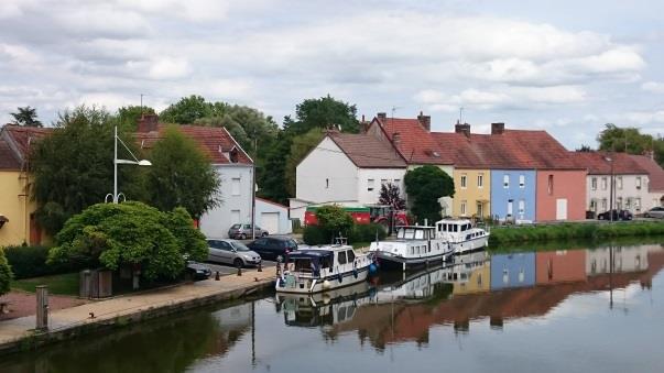
[[(531, 4), (531, 3), (536, 3)], [(662, 1), (1, 0), (0, 120), (198, 94), (281, 120), (327, 94), (359, 114), (492, 121), (596, 145), (664, 134)]]

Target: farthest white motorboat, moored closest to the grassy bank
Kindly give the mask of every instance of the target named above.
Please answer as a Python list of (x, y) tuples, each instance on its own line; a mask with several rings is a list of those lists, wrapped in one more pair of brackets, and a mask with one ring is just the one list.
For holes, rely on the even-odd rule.
[(436, 222), (436, 237), (448, 242), (455, 253), (478, 250), (489, 244), (489, 232), (472, 227), (469, 219), (443, 219)]

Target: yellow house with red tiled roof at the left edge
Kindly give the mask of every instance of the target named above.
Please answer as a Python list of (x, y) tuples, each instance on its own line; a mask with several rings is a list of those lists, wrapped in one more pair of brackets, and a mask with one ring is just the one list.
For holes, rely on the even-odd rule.
[(42, 243), (26, 169), (31, 144), (50, 131), (13, 124), (0, 131), (0, 246)]

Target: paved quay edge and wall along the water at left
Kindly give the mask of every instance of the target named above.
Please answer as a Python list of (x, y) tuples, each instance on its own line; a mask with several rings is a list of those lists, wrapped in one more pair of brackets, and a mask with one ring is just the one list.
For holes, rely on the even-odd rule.
[(0, 322), (0, 355), (37, 350), (46, 344), (131, 323), (238, 299), (274, 286), (275, 267), (243, 271), (163, 289), (119, 296), (53, 311), (48, 330), (35, 330), (35, 316)]

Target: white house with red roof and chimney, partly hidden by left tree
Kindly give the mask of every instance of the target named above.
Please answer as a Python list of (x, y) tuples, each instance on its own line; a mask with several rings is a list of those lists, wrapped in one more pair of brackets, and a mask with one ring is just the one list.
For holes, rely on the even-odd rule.
[[(253, 161), (225, 128), (178, 125), (178, 129), (209, 156), (221, 182), (222, 202), (200, 217), (200, 230), (206, 237), (228, 237), (232, 224), (251, 222)], [(137, 141), (141, 147), (150, 149), (164, 130), (157, 116), (144, 116), (139, 121)]]

